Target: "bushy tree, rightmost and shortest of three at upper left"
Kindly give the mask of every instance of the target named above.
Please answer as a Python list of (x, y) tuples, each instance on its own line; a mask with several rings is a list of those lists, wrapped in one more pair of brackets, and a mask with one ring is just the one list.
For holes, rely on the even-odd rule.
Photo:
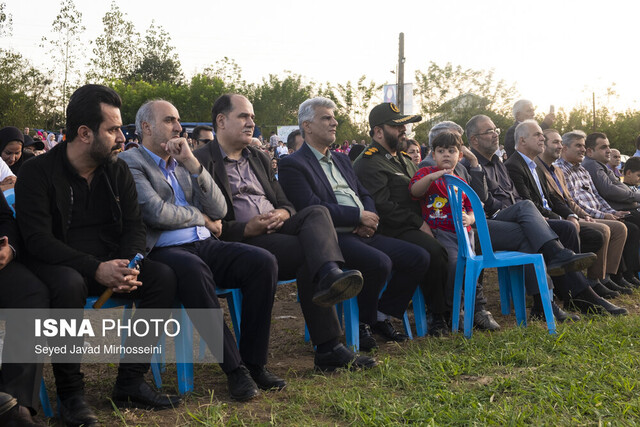
[(167, 82), (181, 84), (184, 80), (180, 69), (180, 60), (171, 45), (171, 37), (161, 26), (151, 25), (144, 37), (140, 62), (136, 65), (129, 80), (146, 82)]

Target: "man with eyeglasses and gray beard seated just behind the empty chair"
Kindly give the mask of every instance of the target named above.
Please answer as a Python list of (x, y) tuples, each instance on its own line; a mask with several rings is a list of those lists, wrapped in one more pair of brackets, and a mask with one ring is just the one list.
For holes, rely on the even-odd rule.
[[(490, 219), (487, 222), (494, 249), (542, 253), (547, 273), (554, 276), (554, 285), (565, 305), (582, 312), (626, 314), (624, 308), (600, 298), (582, 273), (578, 273), (591, 265), (596, 256), (575, 253), (579, 248), (576, 228), (570, 223), (547, 223), (532, 201), (520, 197), (507, 168), (495, 154), (499, 130), (493, 121), (485, 115), (474, 116), (467, 122), (466, 133), (471, 152), (478, 158), (487, 181), (488, 194), (483, 202)], [(529, 270), (525, 281), (527, 293), (534, 296), (533, 313), (542, 313), (540, 295), (532, 277)], [(558, 310), (554, 307), (556, 316), (561, 314)]]

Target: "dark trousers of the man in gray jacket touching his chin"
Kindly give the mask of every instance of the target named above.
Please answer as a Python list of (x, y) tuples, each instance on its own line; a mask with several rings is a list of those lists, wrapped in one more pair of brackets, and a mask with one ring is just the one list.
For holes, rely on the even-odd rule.
[[(242, 364), (267, 363), (271, 309), (278, 280), (278, 265), (268, 251), (243, 243), (221, 242), (213, 237), (180, 246), (154, 248), (149, 258), (170, 266), (178, 277), (178, 299), (186, 308), (219, 308), (216, 285), (242, 292), (240, 352), (224, 325), (224, 360), (229, 373)], [(215, 344), (207, 330), (211, 322), (194, 326), (207, 345)]]

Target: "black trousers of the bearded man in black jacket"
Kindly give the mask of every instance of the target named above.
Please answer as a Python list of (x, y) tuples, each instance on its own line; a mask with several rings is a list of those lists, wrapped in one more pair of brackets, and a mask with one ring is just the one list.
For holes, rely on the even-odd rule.
[[(79, 319), (82, 318), (87, 296), (101, 295), (106, 289), (94, 278), (84, 277), (70, 267), (34, 264), (33, 270), (49, 289), (51, 308), (78, 309), (77, 317)], [(118, 297), (135, 299), (138, 308), (170, 309), (172, 307), (176, 294), (176, 277), (169, 267), (145, 259), (142, 262), (138, 278), (142, 282), (142, 286), (129, 294), (117, 294)], [(134, 319), (139, 316), (141, 315), (136, 314)], [(136, 340), (135, 338), (129, 339)], [(64, 342), (67, 345), (82, 346), (83, 338), (65, 338), (50, 342), (54, 345), (56, 342)], [(51, 361), (58, 395), (64, 398), (82, 392), (84, 390), (84, 375), (80, 370), (80, 361), (58, 363), (56, 359), (54, 356)], [(126, 363), (125, 358), (118, 368), (117, 381), (139, 381), (149, 370), (149, 366), (150, 363)]]

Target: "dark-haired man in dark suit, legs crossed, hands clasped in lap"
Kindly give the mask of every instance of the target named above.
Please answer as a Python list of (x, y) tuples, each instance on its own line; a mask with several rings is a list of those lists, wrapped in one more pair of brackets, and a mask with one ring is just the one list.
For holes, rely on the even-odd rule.
[(341, 271), (344, 258), (326, 208), (296, 212), (273, 176), (270, 159), (251, 146), (253, 106), (244, 96), (223, 95), (212, 107), (214, 140), (195, 156), (215, 177), (228, 209), (220, 238), (267, 249), (276, 255), (279, 277), (296, 278), (300, 303), (314, 344), (315, 365), (325, 371), (372, 367), (339, 343), (333, 305), (362, 289), (362, 275)]

